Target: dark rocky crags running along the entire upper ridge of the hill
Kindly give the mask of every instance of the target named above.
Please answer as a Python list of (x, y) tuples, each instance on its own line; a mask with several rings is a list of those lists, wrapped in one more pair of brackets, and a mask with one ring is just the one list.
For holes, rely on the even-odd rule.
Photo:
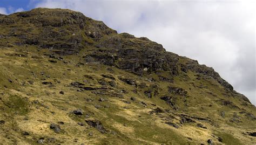
[[(199, 65), (198, 61), (166, 52), (161, 44), (129, 33), (110, 29), (103, 22), (93, 20), (83, 13), (63, 9), (33, 9), (26, 12), (1, 15), (0, 25), (5, 27), (0, 46), (28, 45), (48, 49), (52, 54), (78, 54), (83, 50), (81, 60), (85, 63), (114, 66), (137, 75), (156, 73), (160, 81), (173, 83), (180, 72), (192, 71), (198, 79), (213, 79), (231, 95), (250, 102), (246, 96), (233, 90), (232, 85), (222, 79), (212, 67)], [(31, 25), (33, 27), (31, 27)], [(62, 57), (56, 57), (58, 60)], [(179, 60), (184, 59), (183, 63)], [(57, 63), (57, 60), (50, 60)], [(179, 72), (180, 69), (180, 72)], [(161, 75), (168, 72), (168, 76)], [(175, 83), (175, 82), (174, 82)], [(115, 87), (111, 82), (111, 86)], [(86, 87), (84, 89), (92, 89)], [(149, 93), (147, 93), (149, 94)]]

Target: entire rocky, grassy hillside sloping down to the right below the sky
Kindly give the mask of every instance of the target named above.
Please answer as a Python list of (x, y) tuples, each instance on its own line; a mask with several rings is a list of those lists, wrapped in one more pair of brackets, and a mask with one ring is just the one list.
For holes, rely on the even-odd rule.
[(4, 143), (255, 142), (255, 107), (196, 60), (71, 10), (0, 27)]

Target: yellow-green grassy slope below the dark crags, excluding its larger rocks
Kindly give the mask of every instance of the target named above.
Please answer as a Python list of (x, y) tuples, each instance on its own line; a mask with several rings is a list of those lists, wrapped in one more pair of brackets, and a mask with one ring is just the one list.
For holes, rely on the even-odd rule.
[[(253, 144), (255, 139), (248, 135), (241, 134), (242, 132), (253, 131), (256, 129), (255, 121), (247, 120), (241, 116), (242, 123), (230, 123), (229, 116), (234, 112), (239, 112), (239, 109), (231, 109), (226, 106), (221, 106), (217, 100), (225, 99), (224, 93), (220, 85), (214, 81), (197, 80), (193, 72), (187, 74), (180, 73), (180, 76), (174, 78), (174, 84), (167, 82), (156, 82), (161, 90), (158, 96), (147, 98), (143, 91), (138, 89), (139, 93), (132, 92), (135, 89), (133, 86), (124, 84), (117, 79), (117, 76), (122, 75), (136, 79), (138, 82), (145, 82), (147, 86), (155, 82), (145, 81), (145, 76), (139, 78), (137, 75), (127, 73), (117, 68), (111, 67), (116, 78), (117, 88), (112, 88), (112, 91), (120, 91), (124, 89), (127, 94), (123, 94), (124, 98), (111, 97), (108, 95), (96, 95), (91, 91), (77, 92), (76, 88), (69, 87), (73, 81), (83, 82), (88, 80), (87, 86), (99, 87), (97, 80), (102, 79), (101, 74), (111, 74), (107, 71), (107, 66), (85, 64), (84, 66), (76, 66), (80, 61), (78, 57), (66, 57), (65, 61), (70, 61), (69, 64), (64, 64), (58, 61), (56, 64), (50, 63), (48, 57), (43, 56), (42, 52), (33, 52), (30, 48), (29, 52), (14, 51), (14, 49), (1, 49), (1, 84), (0, 93), (1, 114), (0, 118), (5, 120), (5, 124), (1, 125), (1, 142), (4, 143), (36, 143), (40, 137), (55, 137), (56, 142), (64, 144), (80, 144), (80, 143), (98, 143), (98, 144), (198, 144), (206, 143), (208, 139), (217, 141), (217, 136), (224, 139), (223, 143), (233, 144)], [(27, 57), (12, 56), (11, 54), (26, 54)], [(8, 55), (6, 55), (8, 54)], [(33, 57), (32, 57), (33, 56)], [(77, 59), (75, 59), (77, 58)], [(44, 75), (41, 74), (44, 72)], [(46, 75), (50, 75), (49, 78)], [(84, 75), (91, 75), (94, 80), (87, 79)], [(166, 74), (167, 75), (167, 74)], [(11, 79), (13, 82), (9, 82)], [(34, 81), (30, 85), (27, 81)], [(108, 80), (106, 78), (106, 80)], [(43, 81), (51, 81), (55, 87), (43, 85)], [(59, 83), (57, 81), (60, 81)], [(191, 83), (195, 85), (208, 86), (208, 88), (192, 88)], [(23, 85), (22, 85), (23, 84)], [(187, 106), (184, 104), (184, 98), (178, 96), (177, 104), (180, 109), (173, 111), (169, 105), (158, 97), (167, 93), (167, 86), (178, 86), (188, 92), (186, 98)], [(5, 87), (4, 87), (5, 86)], [(59, 94), (64, 91), (65, 94)], [(214, 92), (217, 96), (211, 96), (206, 92)], [(131, 104), (126, 104), (122, 100), (130, 101), (130, 97), (137, 98), (136, 101), (131, 101)], [(103, 97), (107, 101), (99, 102), (98, 99)], [(87, 102), (86, 99), (92, 99), (92, 102)], [(38, 100), (40, 103), (33, 103)], [(238, 100), (228, 98), (239, 106)], [(147, 103), (143, 107), (139, 101)], [(216, 102), (216, 103), (215, 103)], [(42, 103), (42, 104), (41, 104)], [(150, 114), (149, 112), (156, 108), (171, 109), (170, 113)], [(95, 108), (95, 105), (109, 106), (109, 108)], [(212, 105), (209, 107), (209, 105)], [(243, 108), (243, 106), (239, 106)], [(84, 115), (78, 117), (73, 115), (74, 109), (82, 109)], [(220, 111), (226, 111), (226, 117), (223, 119), (219, 115)], [(248, 112), (255, 114), (255, 108), (246, 107)], [(53, 113), (54, 112), (54, 113)], [(95, 128), (86, 125), (84, 119), (85, 114), (90, 114), (90, 118), (100, 120), (104, 127), (109, 130), (107, 134), (99, 133)], [(178, 122), (177, 114), (190, 114), (201, 118), (210, 118), (214, 120), (214, 124), (209, 122), (197, 121), (203, 123), (208, 129), (198, 128), (195, 123), (186, 123), (179, 129), (166, 125), (164, 122), (166, 116), (173, 115), (177, 119), (173, 122)], [(238, 113), (239, 114), (239, 113)], [(63, 121), (64, 125), (60, 125), (62, 132), (54, 133), (50, 128), (50, 123)], [(77, 125), (77, 122), (83, 122), (85, 126)], [(26, 131), (30, 135), (23, 135)], [(92, 132), (93, 136), (88, 134)], [(213, 137), (214, 136), (214, 137)], [(192, 140), (189, 140), (190, 137)], [(218, 142), (220, 143), (220, 142)]]

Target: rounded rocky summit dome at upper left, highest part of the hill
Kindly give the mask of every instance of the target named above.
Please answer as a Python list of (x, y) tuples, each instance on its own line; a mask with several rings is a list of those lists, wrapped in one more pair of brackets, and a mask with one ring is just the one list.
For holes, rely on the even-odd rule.
[[(85, 17), (83, 13), (62, 9), (37, 8), (13, 13), (9, 17), (1, 17), (0, 24), (14, 26), (6, 31), (6, 37), (19, 38), (15, 44), (38, 45), (39, 49), (49, 49), (62, 55), (76, 54), (84, 45), (117, 33), (103, 22)], [(17, 30), (19, 24), (23, 27), (34, 25), (35, 29)], [(19, 31), (23, 33), (19, 34)]]

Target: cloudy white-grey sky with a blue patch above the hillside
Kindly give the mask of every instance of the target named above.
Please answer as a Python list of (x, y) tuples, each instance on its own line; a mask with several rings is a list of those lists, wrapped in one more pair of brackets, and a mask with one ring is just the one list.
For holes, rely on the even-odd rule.
[(0, 13), (65, 8), (213, 67), (256, 105), (255, 1), (0, 0)]

